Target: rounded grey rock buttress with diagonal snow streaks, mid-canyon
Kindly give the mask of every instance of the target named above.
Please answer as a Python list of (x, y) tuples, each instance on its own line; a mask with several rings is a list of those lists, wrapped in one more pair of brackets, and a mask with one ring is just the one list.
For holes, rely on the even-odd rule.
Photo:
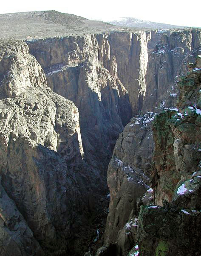
[(108, 243), (116, 241), (130, 212), (136, 209), (137, 199), (149, 188), (149, 179), (142, 170), (148, 173), (150, 169), (153, 141), (149, 125), (153, 117), (153, 113), (147, 113), (131, 119), (116, 142), (108, 166), (110, 208), (105, 231)]

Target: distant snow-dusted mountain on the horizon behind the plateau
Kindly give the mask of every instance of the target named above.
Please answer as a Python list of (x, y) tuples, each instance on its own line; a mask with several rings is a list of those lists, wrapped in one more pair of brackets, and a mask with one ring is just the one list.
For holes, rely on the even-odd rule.
[(147, 28), (147, 29), (175, 29), (185, 28), (185, 26), (176, 26), (164, 23), (157, 23), (148, 20), (139, 20), (133, 17), (119, 17), (113, 20), (103, 20), (116, 26), (134, 27), (134, 28)]

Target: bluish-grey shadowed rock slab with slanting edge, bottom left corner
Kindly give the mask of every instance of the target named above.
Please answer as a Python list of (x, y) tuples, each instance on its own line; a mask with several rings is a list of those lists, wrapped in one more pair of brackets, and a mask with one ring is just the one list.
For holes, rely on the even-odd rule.
[(0, 185), (0, 255), (45, 255), (16, 204)]

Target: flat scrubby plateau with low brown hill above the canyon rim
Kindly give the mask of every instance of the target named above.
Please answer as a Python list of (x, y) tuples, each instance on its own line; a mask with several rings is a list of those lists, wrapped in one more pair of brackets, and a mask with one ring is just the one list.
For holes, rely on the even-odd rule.
[(0, 39), (28, 40), (114, 30), (124, 29), (57, 11), (0, 14)]

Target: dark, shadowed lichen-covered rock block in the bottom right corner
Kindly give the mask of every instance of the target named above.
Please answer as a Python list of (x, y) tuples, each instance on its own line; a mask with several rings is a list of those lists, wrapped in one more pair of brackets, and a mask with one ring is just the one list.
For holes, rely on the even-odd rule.
[(139, 214), (139, 255), (200, 255), (200, 210), (141, 207)]

